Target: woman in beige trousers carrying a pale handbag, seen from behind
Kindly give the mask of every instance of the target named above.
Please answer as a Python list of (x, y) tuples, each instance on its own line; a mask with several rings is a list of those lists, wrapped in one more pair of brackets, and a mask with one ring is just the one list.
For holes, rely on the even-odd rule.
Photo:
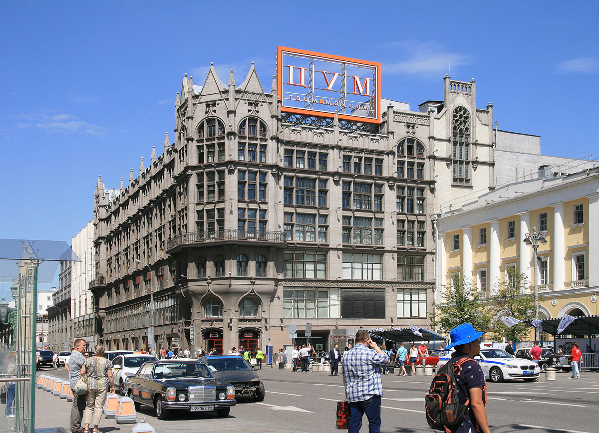
[(94, 355), (85, 360), (81, 367), (81, 377), (87, 375), (86, 407), (83, 411), (84, 433), (89, 433), (89, 425), (93, 423), (93, 433), (98, 433), (98, 425), (102, 417), (102, 407), (106, 401), (106, 393), (110, 387), (110, 393), (114, 394), (114, 379), (112, 374), (112, 362), (104, 358), (104, 345), (96, 344), (93, 348)]

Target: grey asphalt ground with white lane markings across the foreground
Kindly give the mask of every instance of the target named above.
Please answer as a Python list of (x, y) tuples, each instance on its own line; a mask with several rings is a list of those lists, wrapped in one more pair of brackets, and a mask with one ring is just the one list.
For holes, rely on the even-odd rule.
[[(66, 377), (64, 368), (46, 370)], [(213, 414), (174, 414), (176, 419), (160, 421), (152, 411), (141, 408), (138, 420), (146, 417), (157, 432), (238, 431), (238, 432), (336, 432), (336, 402), (344, 398), (341, 375), (323, 372), (293, 373), (264, 367), (259, 371), (267, 393), (264, 402), (239, 402), (231, 415), (219, 419)], [(487, 405), (493, 432), (595, 433), (599, 408), (599, 374), (582, 373), (582, 379), (568, 379), (558, 373), (557, 380), (526, 383), (512, 381), (489, 383)], [(432, 432), (426, 424), (423, 396), (430, 376), (383, 376), (382, 432)], [(68, 428), (70, 403), (43, 390), (36, 399), (36, 429)], [(366, 423), (366, 419), (364, 419)], [(129, 432), (132, 425), (117, 425), (102, 419), (104, 432)], [(367, 426), (362, 431), (368, 431)]]

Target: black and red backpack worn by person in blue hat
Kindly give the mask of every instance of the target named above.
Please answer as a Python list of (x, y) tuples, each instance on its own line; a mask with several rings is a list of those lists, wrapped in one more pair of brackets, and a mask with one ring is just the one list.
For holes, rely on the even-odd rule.
[(424, 398), (424, 404), (426, 422), (435, 430), (449, 433), (458, 428), (464, 419), (470, 399), (466, 404), (459, 403), (455, 378), (456, 375), (461, 374), (462, 364), (466, 361), (473, 361), (473, 359), (465, 356), (455, 363), (447, 362), (432, 378), (431, 389)]

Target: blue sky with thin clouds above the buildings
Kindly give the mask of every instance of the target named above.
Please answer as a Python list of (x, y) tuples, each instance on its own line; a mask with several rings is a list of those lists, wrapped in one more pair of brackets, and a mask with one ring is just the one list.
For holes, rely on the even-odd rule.
[[(597, 2), (2, 2), (0, 238), (70, 241), (93, 189), (137, 176), (173, 131), (183, 74), (270, 89), (277, 46), (382, 63), (412, 110), (477, 81), (498, 128), (548, 155), (597, 154)], [(171, 139), (173, 134), (171, 133)], [(597, 156), (597, 155), (595, 155)]]

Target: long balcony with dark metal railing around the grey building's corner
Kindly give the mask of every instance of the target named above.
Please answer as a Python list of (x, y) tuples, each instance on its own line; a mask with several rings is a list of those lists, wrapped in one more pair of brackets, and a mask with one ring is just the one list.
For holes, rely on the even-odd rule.
[(286, 247), (285, 232), (269, 232), (263, 230), (224, 229), (217, 231), (186, 232), (171, 238), (167, 242), (167, 251), (187, 245), (213, 243), (261, 243), (271, 246)]

